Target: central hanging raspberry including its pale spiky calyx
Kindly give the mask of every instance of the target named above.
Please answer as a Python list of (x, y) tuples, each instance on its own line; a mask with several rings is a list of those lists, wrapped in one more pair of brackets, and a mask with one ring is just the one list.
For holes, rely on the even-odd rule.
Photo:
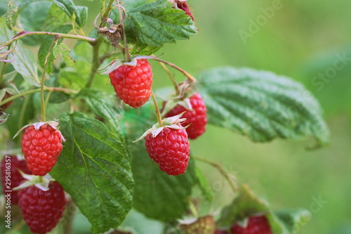
[(159, 168), (171, 176), (183, 174), (190, 159), (190, 144), (187, 132), (180, 124), (182, 114), (162, 120), (162, 125), (154, 124), (141, 138), (145, 138), (145, 147), (149, 156), (159, 164)]

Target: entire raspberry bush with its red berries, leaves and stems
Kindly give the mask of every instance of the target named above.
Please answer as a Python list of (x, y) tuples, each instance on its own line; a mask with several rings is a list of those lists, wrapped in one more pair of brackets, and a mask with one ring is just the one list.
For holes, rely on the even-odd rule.
[[(186, 0), (96, 5), (88, 27), (88, 8), (72, 0), (8, 0), (0, 18), (1, 157), (23, 154), (34, 174), (1, 164), (4, 194), (11, 182), (19, 190), (17, 230), (72, 233), (81, 212), (92, 233), (296, 233), (307, 210), (272, 209), (216, 155), (192, 155), (190, 146), (213, 124), (254, 142), (309, 138), (310, 148), (322, 147), (329, 129), (317, 100), (272, 72), (218, 67), (192, 76), (163, 60), (164, 44), (198, 32)], [(153, 88), (156, 66), (172, 89)], [(198, 162), (232, 189), (220, 212), (199, 214), (213, 192)], [(79, 212), (62, 213), (65, 204)]]

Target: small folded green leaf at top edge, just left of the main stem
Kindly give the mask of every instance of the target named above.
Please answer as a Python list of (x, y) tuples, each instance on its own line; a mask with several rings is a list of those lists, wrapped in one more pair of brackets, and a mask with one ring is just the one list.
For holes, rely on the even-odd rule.
[(75, 6), (72, 0), (53, 0), (62, 11), (64, 11), (69, 18), (72, 18), (73, 13), (76, 15), (76, 23), (79, 28), (86, 24), (88, 15), (88, 8), (86, 6)]

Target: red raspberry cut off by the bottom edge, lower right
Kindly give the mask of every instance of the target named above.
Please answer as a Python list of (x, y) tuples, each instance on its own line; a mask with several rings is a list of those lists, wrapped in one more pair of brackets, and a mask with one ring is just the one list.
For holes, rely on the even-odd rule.
[(270, 223), (266, 216), (251, 216), (246, 228), (239, 226), (237, 223), (232, 226), (232, 234), (272, 234)]

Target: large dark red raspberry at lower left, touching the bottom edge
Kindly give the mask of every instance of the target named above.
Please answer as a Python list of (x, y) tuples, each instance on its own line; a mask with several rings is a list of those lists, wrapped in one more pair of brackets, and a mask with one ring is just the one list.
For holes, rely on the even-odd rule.
[(44, 234), (53, 230), (65, 210), (65, 193), (56, 181), (49, 184), (47, 191), (36, 186), (23, 188), (18, 197), (23, 219), (32, 233)]

